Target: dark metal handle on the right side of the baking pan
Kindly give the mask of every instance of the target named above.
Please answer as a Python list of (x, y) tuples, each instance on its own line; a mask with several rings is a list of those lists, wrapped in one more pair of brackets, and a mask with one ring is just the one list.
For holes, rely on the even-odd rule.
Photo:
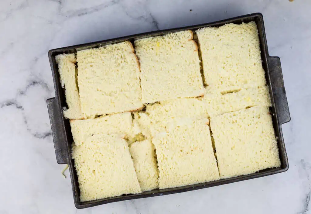
[(290, 121), (290, 111), (285, 93), (280, 58), (268, 57), (268, 68), (272, 86), (272, 94), (274, 97), (274, 105), (279, 124), (281, 125)]

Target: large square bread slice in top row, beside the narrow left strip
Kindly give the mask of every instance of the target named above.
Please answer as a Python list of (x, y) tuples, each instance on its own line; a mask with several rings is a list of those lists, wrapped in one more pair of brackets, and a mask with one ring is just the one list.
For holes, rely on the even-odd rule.
[(139, 63), (125, 41), (77, 52), (82, 112), (89, 117), (143, 107)]

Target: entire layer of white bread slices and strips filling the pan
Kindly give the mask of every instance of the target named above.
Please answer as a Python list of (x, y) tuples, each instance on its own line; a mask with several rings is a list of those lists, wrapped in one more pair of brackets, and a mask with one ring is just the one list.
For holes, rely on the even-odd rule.
[(196, 32), (206, 88), (191, 30), (56, 56), (82, 202), (281, 165), (255, 22)]

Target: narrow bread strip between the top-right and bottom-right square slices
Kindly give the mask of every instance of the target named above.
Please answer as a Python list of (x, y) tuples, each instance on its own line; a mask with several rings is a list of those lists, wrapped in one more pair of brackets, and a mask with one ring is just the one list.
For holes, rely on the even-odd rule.
[(210, 117), (256, 105), (271, 106), (271, 99), (267, 86), (241, 89), (240, 91), (228, 94), (207, 92), (202, 102), (204, 102)]

